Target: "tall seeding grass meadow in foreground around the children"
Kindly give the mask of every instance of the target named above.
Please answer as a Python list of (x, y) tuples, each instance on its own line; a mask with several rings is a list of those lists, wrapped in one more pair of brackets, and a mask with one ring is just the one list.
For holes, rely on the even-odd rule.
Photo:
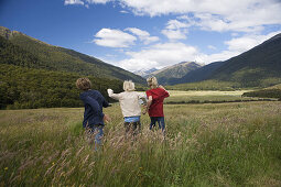
[(143, 116), (137, 140), (114, 105), (97, 152), (83, 111), (0, 111), (0, 186), (281, 186), (279, 101), (166, 105), (165, 139)]

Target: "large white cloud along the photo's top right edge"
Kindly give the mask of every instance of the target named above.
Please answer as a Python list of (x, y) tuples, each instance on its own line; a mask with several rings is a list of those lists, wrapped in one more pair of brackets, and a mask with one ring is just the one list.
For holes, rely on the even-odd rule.
[(182, 15), (179, 19), (188, 20), (186, 23), (173, 23), (167, 29), (190, 24), (206, 31), (253, 32), (263, 30), (268, 24), (281, 24), (281, 2), (278, 0), (121, 0), (121, 2), (131, 8), (136, 14), (154, 16), (175, 13)]

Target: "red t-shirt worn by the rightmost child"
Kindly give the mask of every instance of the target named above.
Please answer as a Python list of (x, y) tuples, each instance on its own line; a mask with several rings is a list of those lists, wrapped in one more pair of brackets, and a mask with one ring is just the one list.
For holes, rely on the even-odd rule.
[(149, 108), (150, 117), (164, 117), (163, 101), (169, 97), (169, 92), (162, 88), (147, 90), (148, 98), (152, 96), (152, 103)]

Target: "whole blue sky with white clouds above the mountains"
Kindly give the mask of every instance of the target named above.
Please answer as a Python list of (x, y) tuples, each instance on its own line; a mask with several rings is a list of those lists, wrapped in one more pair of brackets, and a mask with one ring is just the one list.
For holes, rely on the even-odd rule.
[(237, 56), (281, 33), (281, 0), (0, 0), (0, 25), (136, 72)]

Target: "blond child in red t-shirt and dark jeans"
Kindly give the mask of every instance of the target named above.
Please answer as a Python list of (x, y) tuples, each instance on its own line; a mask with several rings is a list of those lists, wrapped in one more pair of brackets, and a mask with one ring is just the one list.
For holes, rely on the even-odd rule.
[[(158, 122), (159, 129), (162, 129), (162, 132), (165, 132), (165, 121), (164, 121), (164, 112), (163, 112), (163, 101), (164, 98), (169, 97), (169, 92), (165, 90), (163, 86), (158, 86), (158, 80), (155, 77), (150, 77), (147, 79), (148, 85), (151, 89), (147, 90), (148, 96), (148, 106), (147, 111), (149, 111), (150, 116), (150, 130), (155, 127)], [(145, 113), (145, 111), (144, 111)]]

